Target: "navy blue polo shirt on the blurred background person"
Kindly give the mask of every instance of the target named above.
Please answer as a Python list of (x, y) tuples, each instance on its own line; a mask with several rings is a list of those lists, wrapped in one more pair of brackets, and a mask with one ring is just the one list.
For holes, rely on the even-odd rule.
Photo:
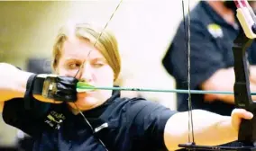
[[(187, 17), (186, 17), (187, 23)], [(187, 89), (187, 49), (185, 45), (184, 21), (172, 40), (163, 66), (176, 80), (178, 89)], [(239, 26), (231, 25), (207, 4), (200, 1), (190, 13), (190, 88), (201, 90), (200, 84), (221, 68), (233, 67), (233, 40)], [(248, 49), (251, 65), (256, 64), (255, 41)], [(228, 77), (223, 77), (228, 78)], [(178, 93), (178, 111), (187, 111), (187, 93)], [(191, 94), (193, 109), (203, 109), (222, 115), (230, 115), (234, 105), (216, 100), (205, 102), (204, 94)]]

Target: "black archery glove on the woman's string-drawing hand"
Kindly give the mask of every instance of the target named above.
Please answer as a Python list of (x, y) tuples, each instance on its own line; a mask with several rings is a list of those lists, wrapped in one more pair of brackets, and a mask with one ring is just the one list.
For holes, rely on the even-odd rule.
[(76, 102), (78, 79), (69, 76), (32, 75), (29, 77), (24, 95), (25, 108), (31, 109), (33, 94), (60, 102)]

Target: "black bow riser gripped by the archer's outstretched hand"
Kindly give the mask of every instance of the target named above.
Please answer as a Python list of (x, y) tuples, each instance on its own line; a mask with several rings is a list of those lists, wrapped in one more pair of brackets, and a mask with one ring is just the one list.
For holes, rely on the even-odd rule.
[[(235, 83), (233, 85), (234, 102), (237, 108), (256, 113), (256, 103), (251, 100), (249, 68), (247, 61), (247, 49), (251, 46), (252, 40), (241, 33), (233, 41), (234, 75)], [(238, 142), (243, 147), (250, 147), (248, 150), (256, 150), (256, 117), (252, 120), (242, 120)]]

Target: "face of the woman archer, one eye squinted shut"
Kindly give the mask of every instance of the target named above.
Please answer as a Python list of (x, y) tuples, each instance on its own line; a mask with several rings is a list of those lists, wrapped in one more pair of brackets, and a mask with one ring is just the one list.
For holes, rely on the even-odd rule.
[[(84, 62), (85, 61), (85, 62)], [(114, 84), (114, 72), (107, 64), (104, 56), (93, 47), (88, 40), (73, 38), (66, 40), (62, 47), (57, 72), (59, 76), (76, 76), (95, 86), (112, 87)], [(87, 93), (78, 93), (78, 101), (69, 102), (69, 106), (80, 111), (87, 111), (101, 105), (112, 95), (111, 90), (95, 90)]]

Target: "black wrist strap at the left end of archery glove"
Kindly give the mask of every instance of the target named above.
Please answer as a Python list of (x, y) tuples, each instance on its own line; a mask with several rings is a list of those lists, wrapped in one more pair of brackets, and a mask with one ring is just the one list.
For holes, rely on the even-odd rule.
[(25, 110), (30, 110), (32, 108), (32, 89), (33, 89), (33, 83), (34, 79), (36, 78), (37, 74), (33, 74), (29, 77), (27, 84), (26, 84), (26, 92), (24, 94), (24, 108)]

